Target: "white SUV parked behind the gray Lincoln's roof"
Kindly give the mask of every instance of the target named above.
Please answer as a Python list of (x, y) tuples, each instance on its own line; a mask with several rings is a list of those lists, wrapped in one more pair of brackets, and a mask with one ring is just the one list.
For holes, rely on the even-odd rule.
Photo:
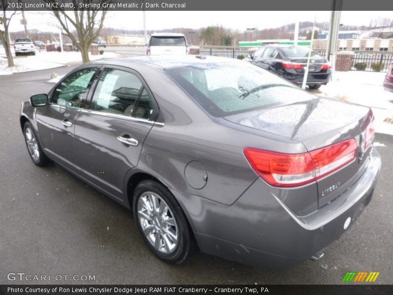
[(180, 33), (153, 33), (146, 49), (146, 55), (186, 55), (189, 52), (186, 36)]

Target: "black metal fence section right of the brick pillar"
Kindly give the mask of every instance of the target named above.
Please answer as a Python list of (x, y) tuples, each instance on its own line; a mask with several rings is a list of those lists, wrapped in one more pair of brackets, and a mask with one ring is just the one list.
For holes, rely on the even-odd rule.
[(393, 61), (393, 52), (355, 51), (353, 71), (387, 72)]

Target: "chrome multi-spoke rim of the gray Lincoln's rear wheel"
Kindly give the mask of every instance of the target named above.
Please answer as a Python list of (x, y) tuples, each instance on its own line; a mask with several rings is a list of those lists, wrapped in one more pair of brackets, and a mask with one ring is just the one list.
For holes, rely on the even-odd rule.
[(143, 234), (156, 250), (173, 253), (179, 242), (179, 228), (168, 204), (157, 194), (143, 193), (138, 201), (138, 218)]

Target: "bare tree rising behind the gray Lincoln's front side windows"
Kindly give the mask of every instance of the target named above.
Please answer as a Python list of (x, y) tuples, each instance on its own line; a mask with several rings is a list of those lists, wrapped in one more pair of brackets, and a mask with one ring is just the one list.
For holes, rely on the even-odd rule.
[[(44, 0), (47, 3), (55, 3), (56, 0)], [(78, 7), (78, 0), (72, 0), (74, 7)], [(51, 8), (51, 12), (60, 23), (60, 28), (64, 34), (79, 48), (82, 54), (82, 61), (89, 62), (88, 51), (91, 43), (100, 35), (104, 26), (107, 8), (103, 8), (103, 3), (109, 1), (91, 1), (99, 4), (88, 8), (78, 8), (80, 10), (66, 11), (61, 7)], [(56, 6), (56, 5), (55, 5)], [(60, 5), (58, 5), (60, 6)], [(76, 35), (73, 33), (76, 31)]]

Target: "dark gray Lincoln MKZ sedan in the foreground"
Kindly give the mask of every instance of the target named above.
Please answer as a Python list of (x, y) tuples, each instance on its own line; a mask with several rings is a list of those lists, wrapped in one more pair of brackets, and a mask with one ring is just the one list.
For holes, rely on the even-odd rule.
[(373, 121), (367, 107), (204, 56), (84, 64), (20, 115), (32, 161), (132, 208), (163, 261), (181, 263), (196, 241), (275, 268), (320, 258), (370, 202)]

